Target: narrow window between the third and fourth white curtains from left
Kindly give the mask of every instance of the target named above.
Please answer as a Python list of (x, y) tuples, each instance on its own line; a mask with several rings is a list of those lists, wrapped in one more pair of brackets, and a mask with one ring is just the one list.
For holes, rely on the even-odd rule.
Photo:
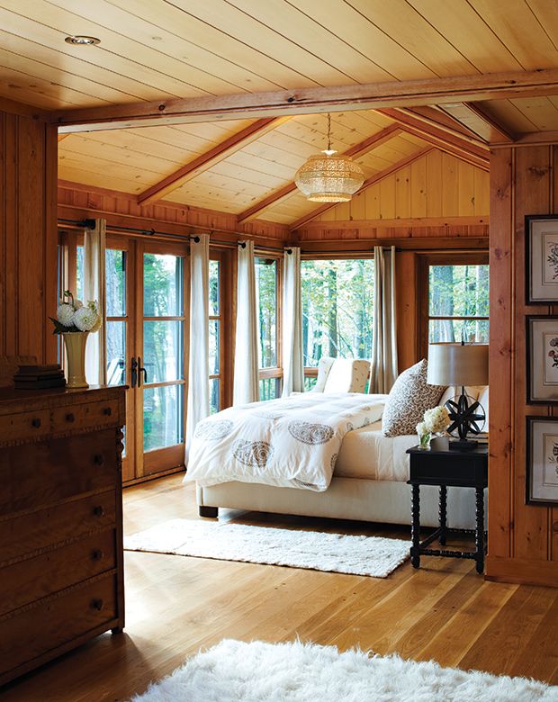
[(256, 257), (256, 288), (259, 314), (259, 397), (274, 400), (281, 395), (282, 369), (278, 365), (279, 262)]

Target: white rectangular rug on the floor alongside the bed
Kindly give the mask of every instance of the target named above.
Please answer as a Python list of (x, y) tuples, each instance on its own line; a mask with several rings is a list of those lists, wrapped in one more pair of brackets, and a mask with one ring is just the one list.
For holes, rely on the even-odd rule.
[(173, 519), (128, 536), (124, 548), (386, 578), (409, 557), (410, 544), (378, 536)]

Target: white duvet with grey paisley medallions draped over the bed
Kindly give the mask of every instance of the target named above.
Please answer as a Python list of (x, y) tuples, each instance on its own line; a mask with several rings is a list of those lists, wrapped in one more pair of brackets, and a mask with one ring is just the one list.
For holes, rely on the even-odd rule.
[(223, 410), (196, 427), (184, 480), (325, 491), (343, 437), (380, 419), (385, 398), (307, 392)]

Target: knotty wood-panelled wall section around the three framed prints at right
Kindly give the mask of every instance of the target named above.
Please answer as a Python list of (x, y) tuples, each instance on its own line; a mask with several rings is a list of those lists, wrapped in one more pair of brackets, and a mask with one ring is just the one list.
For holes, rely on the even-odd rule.
[[(558, 586), (558, 507), (526, 505), (526, 416), (553, 410), (526, 403), (527, 214), (558, 211), (558, 145), (491, 153), (491, 458), (489, 556), (494, 580)], [(556, 411), (554, 410), (554, 413)]]

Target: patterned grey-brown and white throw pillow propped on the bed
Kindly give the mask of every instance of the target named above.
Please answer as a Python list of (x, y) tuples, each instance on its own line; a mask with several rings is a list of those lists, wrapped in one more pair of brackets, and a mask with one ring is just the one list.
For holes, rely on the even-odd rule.
[(427, 360), (412, 365), (393, 383), (382, 418), (384, 437), (415, 434), (426, 410), (437, 406), (446, 388), (427, 384)]

